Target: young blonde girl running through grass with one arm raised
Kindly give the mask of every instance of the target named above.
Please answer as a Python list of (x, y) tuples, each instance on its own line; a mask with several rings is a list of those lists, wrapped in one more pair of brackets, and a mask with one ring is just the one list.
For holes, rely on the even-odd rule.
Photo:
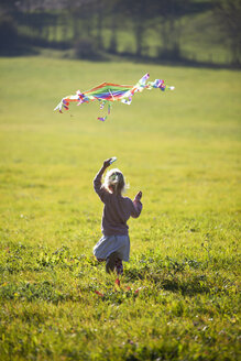
[(123, 273), (122, 261), (129, 261), (130, 239), (127, 221), (130, 217), (138, 218), (142, 211), (141, 197), (139, 192), (132, 201), (128, 197), (122, 197), (125, 188), (123, 174), (119, 169), (111, 169), (107, 173), (103, 184), (102, 175), (111, 164), (111, 158), (103, 162), (102, 167), (94, 179), (94, 189), (105, 204), (101, 231), (102, 238), (94, 248), (94, 254), (98, 261), (106, 260), (106, 271), (108, 273), (117, 271)]

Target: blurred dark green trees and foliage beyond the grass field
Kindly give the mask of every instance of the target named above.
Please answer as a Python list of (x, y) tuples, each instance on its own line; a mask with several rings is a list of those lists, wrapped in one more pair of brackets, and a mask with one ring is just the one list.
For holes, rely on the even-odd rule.
[(240, 65), (239, 0), (4, 1), (1, 18), (2, 54), (37, 47), (91, 61), (116, 54), (206, 66), (229, 65), (231, 54)]

